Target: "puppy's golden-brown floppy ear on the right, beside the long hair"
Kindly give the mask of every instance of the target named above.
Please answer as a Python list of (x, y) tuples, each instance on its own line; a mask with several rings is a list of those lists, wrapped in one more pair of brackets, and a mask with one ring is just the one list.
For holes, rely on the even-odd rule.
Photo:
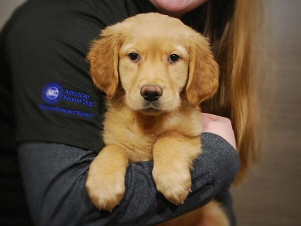
[(206, 38), (199, 33), (190, 37), (189, 78), (186, 85), (186, 97), (192, 106), (197, 107), (202, 101), (211, 98), (216, 93), (219, 67), (214, 60)]

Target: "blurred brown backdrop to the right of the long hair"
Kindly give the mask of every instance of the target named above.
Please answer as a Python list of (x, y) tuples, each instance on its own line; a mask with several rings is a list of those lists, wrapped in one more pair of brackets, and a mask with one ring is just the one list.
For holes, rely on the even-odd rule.
[(262, 117), (269, 122), (261, 161), (232, 189), (238, 226), (301, 225), (301, 1), (268, 2), (269, 75)]

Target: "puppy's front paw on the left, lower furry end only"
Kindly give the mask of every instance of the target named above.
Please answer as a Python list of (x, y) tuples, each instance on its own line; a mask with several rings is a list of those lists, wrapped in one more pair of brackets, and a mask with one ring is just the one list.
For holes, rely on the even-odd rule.
[(88, 175), (86, 189), (93, 204), (99, 210), (112, 211), (120, 203), (125, 191), (124, 174), (94, 172)]

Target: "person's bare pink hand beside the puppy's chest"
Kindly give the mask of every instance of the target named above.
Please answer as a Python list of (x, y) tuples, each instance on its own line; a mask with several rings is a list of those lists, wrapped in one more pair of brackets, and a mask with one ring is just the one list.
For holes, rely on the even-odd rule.
[(228, 118), (201, 113), (203, 116), (203, 132), (213, 133), (228, 141), (235, 149), (236, 142), (231, 121)]

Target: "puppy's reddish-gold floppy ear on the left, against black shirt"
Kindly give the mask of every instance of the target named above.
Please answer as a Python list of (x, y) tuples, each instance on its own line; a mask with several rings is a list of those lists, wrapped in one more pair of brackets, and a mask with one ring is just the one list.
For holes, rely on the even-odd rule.
[[(119, 24), (117, 24), (119, 25)], [(94, 40), (87, 61), (97, 88), (111, 99), (118, 86), (118, 53), (122, 44), (122, 33), (113, 25), (104, 29), (99, 40)]]

